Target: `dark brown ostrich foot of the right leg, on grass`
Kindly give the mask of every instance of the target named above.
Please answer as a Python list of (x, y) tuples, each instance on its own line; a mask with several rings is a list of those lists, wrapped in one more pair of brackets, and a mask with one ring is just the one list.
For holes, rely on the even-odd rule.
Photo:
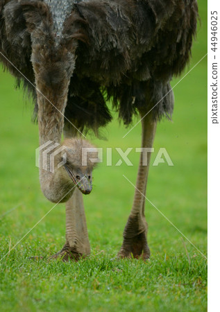
[(135, 259), (149, 259), (150, 249), (146, 241), (146, 229), (138, 233), (138, 218), (128, 218), (128, 223), (124, 230), (124, 241), (121, 249), (117, 254), (119, 258), (135, 258)]

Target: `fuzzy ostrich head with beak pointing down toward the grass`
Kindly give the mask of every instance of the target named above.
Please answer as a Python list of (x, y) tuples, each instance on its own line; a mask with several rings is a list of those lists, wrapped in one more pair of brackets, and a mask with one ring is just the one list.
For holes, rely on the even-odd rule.
[(65, 147), (65, 155), (61, 155), (61, 161), (65, 162), (62, 170), (66, 178), (83, 194), (89, 194), (92, 191), (92, 170), (97, 161), (96, 148), (83, 139), (65, 139), (62, 146)]

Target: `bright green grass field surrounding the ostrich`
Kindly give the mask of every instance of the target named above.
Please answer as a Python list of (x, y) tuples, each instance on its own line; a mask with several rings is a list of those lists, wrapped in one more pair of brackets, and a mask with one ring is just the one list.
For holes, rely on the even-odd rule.
[[(204, 1), (198, 3), (201, 26), (185, 73), (207, 51), (207, 8)], [(154, 144), (155, 152), (167, 149), (174, 166), (151, 162), (147, 189), (147, 198), (205, 255), (206, 75), (204, 58), (175, 87), (173, 122), (158, 125)], [(40, 191), (32, 107), (24, 105), (22, 92), (13, 85), (13, 78), (1, 70), (0, 258), (53, 207)], [(104, 148), (139, 147), (140, 125), (122, 139), (127, 131), (116, 117), (104, 131), (108, 141), (92, 141)], [(118, 159), (114, 152), (113, 164)], [(139, 154), (130, 153), (130, 159), (134, 166), (104, 162), (94, 171), (94, 189), (85, 197), (90, 257), (78, 263), (46, 260), (65, 243), (65, 205), (60, 204), (0, 261), (1, 311), (206, 311), (206, 259), (186, 239), (184, 245), (181, 234), (149, 202), (151, 260), (115, 259), (134, 193), (123, 175), (135, 183)], [(33, 255), (44, 259), (28, 259)]]

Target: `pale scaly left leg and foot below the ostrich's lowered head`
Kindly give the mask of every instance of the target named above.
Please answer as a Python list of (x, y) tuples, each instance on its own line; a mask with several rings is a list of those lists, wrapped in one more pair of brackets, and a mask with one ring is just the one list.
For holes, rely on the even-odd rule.
[(73, 196), (66, 202), (66, 243), (52, 259), (78, 261), (90, 254), (90, 241), (85, 220), (83, 194), (75, 188)]

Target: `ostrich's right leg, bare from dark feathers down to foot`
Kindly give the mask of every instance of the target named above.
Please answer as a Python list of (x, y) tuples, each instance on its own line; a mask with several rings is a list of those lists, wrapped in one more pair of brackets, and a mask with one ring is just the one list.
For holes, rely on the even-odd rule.
[[(146, 112), (139, 112), (142, 118)], [(152, 148), (153, 139), (155, 137), (156, 121), (153, 121), (150, 114), (147, 114), (142, 119), (142, 148)], [(148, 259), (150, 257), (149, 246), (146, 241), (147, 223), (144, 216), (146, 182), (149, 174), (149, 164), (151, 153), (147, 150), (142, 150), (139, 159), (139, 168), (137, 173), (137, 182), (135, 189), (135, 197), (133, 200), (133, 207), (128, 217), (128, 222), (124, 229), (124, 241), (118, 257), (143, 257)], [(143, 164), (143, 159), (147, 157), (147, 166)], [(143, 195), (142, 195), (143, 194)]]

